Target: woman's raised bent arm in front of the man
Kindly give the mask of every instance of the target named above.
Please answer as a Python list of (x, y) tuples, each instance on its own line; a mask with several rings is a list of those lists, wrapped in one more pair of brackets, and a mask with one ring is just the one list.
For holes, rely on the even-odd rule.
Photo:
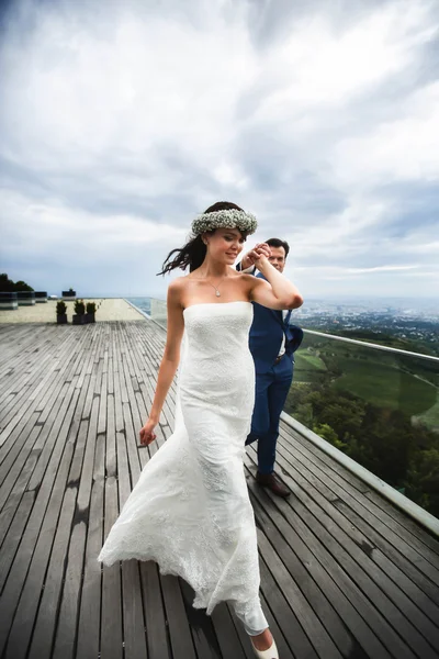
[(269, 309), (297, 309), (303, 298), (299, 289), (261, 256), (256, 266), (267, 279), (251, 278), (250, 299)]

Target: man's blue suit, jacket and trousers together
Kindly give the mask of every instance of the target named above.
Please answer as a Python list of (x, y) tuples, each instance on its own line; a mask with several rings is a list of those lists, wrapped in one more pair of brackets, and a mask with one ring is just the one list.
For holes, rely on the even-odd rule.
[[(262, 278), (261, 273), (257, 277)], [(256, 395), (251, 432), (246, 444), (258, 442), (258, 471), (272, 473), (275, 445), (279, 436), (279, 417), (293, 380), (294, 351), (302, 343), (303, 332), (290, 325), (291, 311), (285, 320), (281, 311), (267, 309), (254, 302), (254, 322), (249, 346), (255, 360)], [(285, 337), (285, 355), (274, 364)]]

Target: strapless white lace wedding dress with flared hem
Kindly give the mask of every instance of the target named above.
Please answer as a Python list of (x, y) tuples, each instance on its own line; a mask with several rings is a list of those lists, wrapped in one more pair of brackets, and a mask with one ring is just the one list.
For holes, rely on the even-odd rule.
[(251, 321), (244, 301), (184, 310), (175, 433), (143, 469), (98, 560), (154, 560), (193, 588), (195, 607), (210, 614), (228, 601), (255, 635), (268, 623), (243, 463), (255, 399)]

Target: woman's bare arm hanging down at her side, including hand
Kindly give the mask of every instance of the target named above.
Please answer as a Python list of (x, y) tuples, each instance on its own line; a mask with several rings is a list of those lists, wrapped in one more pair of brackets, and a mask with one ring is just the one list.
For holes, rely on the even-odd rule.
[(168, 328), (164, 357), (158, 371), (156, 393), (149, 418), (140, 429), (140, 444), (148, 445), (156, 438), (155, 426), (160, 420), (161, 410), (169, 388), (180, 362), (180, 346), (184, 331), (183, 309), (181, 305), (181, 283), (176, 280), (168, 288)]

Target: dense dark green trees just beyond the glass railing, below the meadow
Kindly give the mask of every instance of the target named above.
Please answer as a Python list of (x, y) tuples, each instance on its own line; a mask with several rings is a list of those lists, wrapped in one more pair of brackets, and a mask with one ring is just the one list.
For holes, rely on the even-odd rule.
[(439, 516), (437, 432), (419, 422), (414, 426), (405, 411), (368, 403), (334, 389), (330, 382), (295, 383), (285, 411), (392, 487), (404, 488), (406, 496)]

